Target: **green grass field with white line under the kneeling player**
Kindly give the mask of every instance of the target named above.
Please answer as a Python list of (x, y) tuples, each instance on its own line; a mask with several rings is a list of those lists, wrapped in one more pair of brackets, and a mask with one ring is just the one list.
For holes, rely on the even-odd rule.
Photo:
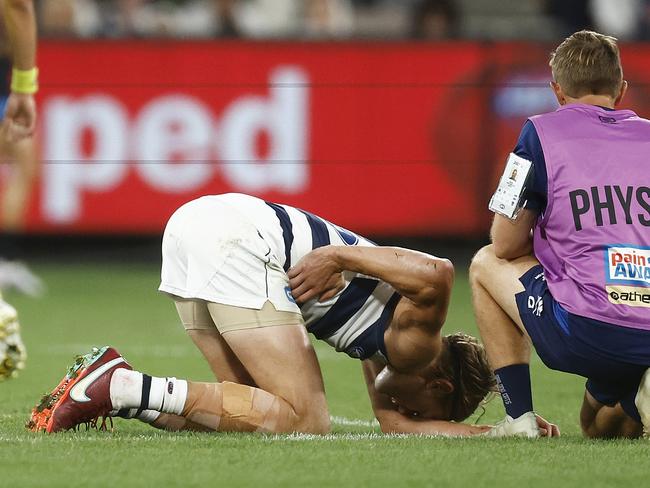
[[(577, 412), (583, 381), (533, 361), (536, 409), (560, 439), (383, 436), (357, 361), (317, 345), (333, 419), (324, 437), (168, 434), (136, 421), (115, 431), (42, 435), (23, 425), (75, 354), (115, 346), (139, 370), (211, 380), (172, 303), (156, 292), (154, 264), (36, 266), (49, 292), (9, 295), (29, 349), (21, 376), (0, 383), (0, 486), (648, 486), (650, 444), (589, 441)], [(446, 331), (475, 333), (466, 276), (458, 272)], [(495, 399), (481, 423), (502, 417)]]

